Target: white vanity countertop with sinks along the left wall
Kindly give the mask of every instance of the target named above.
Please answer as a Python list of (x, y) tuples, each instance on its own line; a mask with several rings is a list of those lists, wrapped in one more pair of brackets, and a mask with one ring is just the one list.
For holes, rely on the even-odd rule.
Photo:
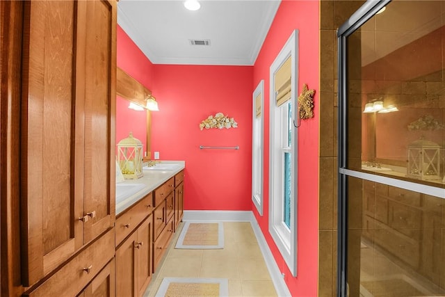
[(152, 168), (143, 168), (144, 175), (139, 179), (125, 179), (125, 182), (116, 184), (116, 187), (120, 186), (122, 188), (120, 191), (121, 193), (122, 191), (127, 191), (127, 188), (129, 189), (128, 193), (131, 193), (131, 184), (139, 185), (135, 185), (135, 187), (133, 187), (133, 189), (136, 188), (135, 193), (131, 193), (128, 197), (125, 197), (120, 201), (116, 200), (116, 216), (118, 216), (118, 214), (125, 209), (131, 207), (131, 205), (133, 205), (135, 202), (138, 202), (140, 199), (144, 198), (145, 195), (152, 192), (155, 188), (161, 186), (161, 184), (167, 182), (168, 179), (174, 177), (179, 171), (185, 168), (186, 162), (159, 161), (156, 166)]

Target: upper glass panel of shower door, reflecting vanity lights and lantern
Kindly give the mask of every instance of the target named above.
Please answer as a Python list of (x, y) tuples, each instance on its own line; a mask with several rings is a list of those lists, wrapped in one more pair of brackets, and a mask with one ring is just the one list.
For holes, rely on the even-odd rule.
[(348, 167), (445, 184), (441, 11), (443, 1), (391, 2), (348, 37), (348, 108), (362, 118), (350, 127)]

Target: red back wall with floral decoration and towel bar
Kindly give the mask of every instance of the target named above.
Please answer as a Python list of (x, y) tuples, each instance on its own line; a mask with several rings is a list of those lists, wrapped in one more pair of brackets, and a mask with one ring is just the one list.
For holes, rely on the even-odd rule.
[[(152, 151), (186, 161), (184, 209), (250, 210), (253, 67), (154, 65), (154, 71), (160, 111), (152, 113)], [(238, 128), (201, 131), (200, 122), (218, 112)]]

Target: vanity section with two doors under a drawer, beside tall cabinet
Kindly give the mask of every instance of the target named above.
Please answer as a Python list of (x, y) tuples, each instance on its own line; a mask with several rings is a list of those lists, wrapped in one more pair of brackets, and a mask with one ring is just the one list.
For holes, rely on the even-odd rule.
[[(136, 205), (128, 209), (116, 220), (116, 294), (117, 296), (143, 296), (149, 281), (152, 279), (152, 244), (153, 244), (153, 215), (145, 210), (142, 223), (136, 221), (140, 217), (140, 205), (145, 207), (147, 198), (152, 199), (152, 193), (145, 196)], [(145, 207), (145, 209), (150, 209)], [(129, 236), (118, 243), (118, 224), (123, 224), (133, 218), (133, 227)], [(138, 225), (139, 224), (139, 225)]]

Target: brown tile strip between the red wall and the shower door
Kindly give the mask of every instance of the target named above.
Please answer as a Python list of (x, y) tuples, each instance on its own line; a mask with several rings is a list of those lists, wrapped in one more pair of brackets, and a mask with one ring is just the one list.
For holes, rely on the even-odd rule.
[(337, 296), (337, 28), (365, 1), (320, 1), (318, 296)]

